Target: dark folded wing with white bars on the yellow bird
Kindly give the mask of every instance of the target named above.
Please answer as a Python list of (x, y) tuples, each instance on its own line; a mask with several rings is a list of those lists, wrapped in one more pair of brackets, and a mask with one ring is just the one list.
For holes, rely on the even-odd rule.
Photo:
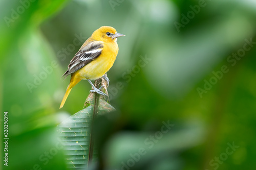
[(87, 45), (81, 47), (75, 57), (70, 61), (68, 70), (63, 74), (63, 76), (65, 76), (64, 78), (99, 57), (103, 47), (103, 41), (91, 41)]

